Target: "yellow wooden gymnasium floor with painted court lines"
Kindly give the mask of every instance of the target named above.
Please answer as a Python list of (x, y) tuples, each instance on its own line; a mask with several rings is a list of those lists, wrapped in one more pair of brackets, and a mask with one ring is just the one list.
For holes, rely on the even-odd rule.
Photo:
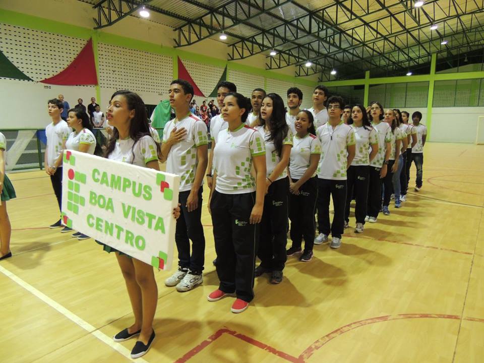
[[(429, 143), (423, 176), (401, 209), (363, 234), (347, 229), (339, 250), (289, 258), (280, 285), (258, 278), (238, 315), (233, 299), (206, 299), (218, 279), (205, 202), (204, 283), (178, 293), (163, 284), (170, 271), (155, 272), (157, 336), (137, 361), (484, 361), (484, 146)], [(8, 203), (14, 257), (0, 262), (0, 361), (130, 361), (135, 341), (111, 339), (132, 322), (114, 256), (46, 228), (58, 211), (44, 172), (10, 177), (18, 198)]]

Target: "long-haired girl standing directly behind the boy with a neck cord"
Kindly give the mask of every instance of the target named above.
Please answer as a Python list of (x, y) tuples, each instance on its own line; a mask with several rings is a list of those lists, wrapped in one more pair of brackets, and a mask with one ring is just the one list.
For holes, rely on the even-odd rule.
[(356, 147), (353, 161), (348, 168), (344, 226), (345, 228), (349, 227), (349, 205), (351, 197), (354, 195), (356, 201), (354, 208), (356, 227), (354, 231), (362, 233), (365, 216), (367, 215), (370, 162), (378, 153), (378, 136), (377, 131), (368, 119), (367, 110), (360, 104), (353, 106), (351, 119), (348, 122), (354, 130)]

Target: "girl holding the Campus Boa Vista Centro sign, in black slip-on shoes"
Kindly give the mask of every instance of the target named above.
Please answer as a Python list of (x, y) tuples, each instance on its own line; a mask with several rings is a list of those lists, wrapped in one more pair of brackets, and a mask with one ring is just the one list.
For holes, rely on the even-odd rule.
[[(126, 90), (114, 92), (106, 116), (114, 129), (105, 157), (159, 170), (159, 145), (150, 135), (148, 116), (141, 97)], [(179, 214), (177, 207), (173, 210), (173, 217), (176, 219)], [(102, 244), (102, 241), (96, 242), (103, 246), (104, 251), (115, 253), (135, 318), (133, 325), (117, 333), (113, 339), (121, 342), (139, 335), (131, 351), (131, 357), (138, 358), (146, 354), (155, 338), (153, 318), (158, 302), (158, 287), (153, 267)]]

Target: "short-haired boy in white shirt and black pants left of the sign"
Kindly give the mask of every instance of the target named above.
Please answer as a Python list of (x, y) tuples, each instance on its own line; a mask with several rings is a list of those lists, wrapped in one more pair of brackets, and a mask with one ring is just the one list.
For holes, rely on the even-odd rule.
[[(52, 122), (45, 128), (45, 136), (47, 137), (44, 154), (45, 172), (50, 176), (50, 183), (57, 198), (60, 213), (62, 210), (62, 158), (71, 129), (61, 118), (64, 110), (61, 100), (53, 98), (47, 102), (47, 106)], [(60, 218), (49, 226), (49, 228), (58, 227), (62, 227)], [(71, 228), (66, 226), (62, 229), (62, 232), (70, 232), (71, 230)]]

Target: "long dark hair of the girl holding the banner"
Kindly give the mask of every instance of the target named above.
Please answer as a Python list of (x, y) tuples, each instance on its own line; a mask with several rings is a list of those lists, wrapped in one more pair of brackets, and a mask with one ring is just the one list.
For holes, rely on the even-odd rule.
[[(145, 103), (137, 93), (134, 93), (128, 90), (116, 91), (112, 94), (111, 100), (117, 95), (123, 95), (126, 98), (126, 101), (128, 103), (128, 109), (130, 111), (133, 109), (135, 110), (135, 116), (131, 119), (130, 130), (129, 130), (130, 138), (133, 139), (133, 141), (135, 142), (133, 144), (133, 147), (131, 148), (131, 153), (133, 154), (133, 160), (131, 161), (131, 163), (133, 163), (135, 159), (134, 147), (136, 145), (136, 142), (140, 140), (143, 136), (149, 136), (153, 139), (150, 132), (150, 126), (148, 124), (148, 115), (146, 113)], [(109, 154), (114, 150), (114, 147), (116, 146), (116, 141), (118, 139), (119, 139), (119, 132), (117, 131), (116, 128), (114, 128), (112, 130), (111, 140), (109, 140), (109, 144), (107, 145), (106, 152), (104, 153), (104, 157), (107, 158)], [(161, 151), (160, 145), (156, 142), (155, 144), (156, 144), (157, 154), (159, 155)]]

